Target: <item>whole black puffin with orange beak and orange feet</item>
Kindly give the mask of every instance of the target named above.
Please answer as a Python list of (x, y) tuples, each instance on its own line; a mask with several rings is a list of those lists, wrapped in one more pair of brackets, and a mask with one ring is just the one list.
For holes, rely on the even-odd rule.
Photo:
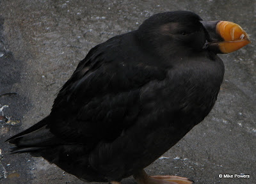
[(143, 168), (200, 123), (216, 102), (218, 53), (250, 43), (227, 21), (190, 11), (158, 13), (136, 31), (93, 47), (54, 100), (51, 113), (7, 141), (84, 181), (188, 184)]

